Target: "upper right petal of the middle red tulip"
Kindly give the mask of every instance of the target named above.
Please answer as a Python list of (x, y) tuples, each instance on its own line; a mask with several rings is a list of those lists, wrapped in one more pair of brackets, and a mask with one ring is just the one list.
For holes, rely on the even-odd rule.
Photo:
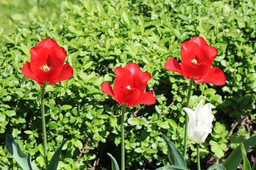
[(145, 73), (143, 71), (137, 72), (134, 75), (133, 88), (137, 88), (140, 90), (140, 94), (143, 94), (148, 83), (152, 76), (149, 73)]

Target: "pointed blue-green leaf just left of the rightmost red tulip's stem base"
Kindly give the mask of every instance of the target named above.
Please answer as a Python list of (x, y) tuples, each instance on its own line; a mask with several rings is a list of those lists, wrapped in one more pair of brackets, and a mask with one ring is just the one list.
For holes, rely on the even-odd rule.
[(168, 151), (170, 154), (170, 155), (168, 155), (168, 158), (169, 158), (171, 164), (179, 165), (181, 167), (187, 168), (186, 161), (183, 158), (183, 156), (181, 155), (180, 151), (175, 146), (175, 144), (173, 144), (171, 141), (169, 141), (169, 139), (163, 133), (160, 132), (160, 134), (163, 136), (163, 139), (167, 143)]

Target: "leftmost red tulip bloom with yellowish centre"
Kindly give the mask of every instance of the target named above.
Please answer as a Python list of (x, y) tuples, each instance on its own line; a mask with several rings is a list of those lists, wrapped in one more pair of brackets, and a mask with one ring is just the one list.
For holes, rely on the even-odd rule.
[[(64, 64), (67, 51), (51, 38), (46, 38), (30, 50), (30, 62), (25, 63), (21, 73), (43, 86), (69, 79), (73, 76), (73, 68)], [(64, 65), (63, 65), (64, 64)]]

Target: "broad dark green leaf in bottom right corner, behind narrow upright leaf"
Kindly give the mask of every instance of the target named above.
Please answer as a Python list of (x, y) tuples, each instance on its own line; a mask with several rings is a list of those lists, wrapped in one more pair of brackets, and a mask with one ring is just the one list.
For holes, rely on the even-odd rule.
[[(252, 148), (256, 144), (256, 136), (253, 136), (243, 142), (245, 153), (247, 153), (250, 148)], [(236, 147), (230, 153), (230, 156), (227, 157), (226, 161), (222, 164), (227, 170), (236, 170), (241, 161), (243, 160), (243, 156), (241, 153), (241, 144)]]

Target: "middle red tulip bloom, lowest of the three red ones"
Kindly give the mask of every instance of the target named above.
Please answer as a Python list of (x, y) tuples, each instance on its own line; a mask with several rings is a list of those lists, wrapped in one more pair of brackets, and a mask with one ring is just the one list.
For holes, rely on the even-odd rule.
[(124, 68), (115, 69), (116, 80), (113, 89), (108, 82), (103, 83), (102, 92), (112, 96), (120, 105), (128, 107), (138, 104), (152, 105), (156, 102), (151, 92), (145, 92), (150, 74), (140, 70), (136, 63), (129, 63)]

